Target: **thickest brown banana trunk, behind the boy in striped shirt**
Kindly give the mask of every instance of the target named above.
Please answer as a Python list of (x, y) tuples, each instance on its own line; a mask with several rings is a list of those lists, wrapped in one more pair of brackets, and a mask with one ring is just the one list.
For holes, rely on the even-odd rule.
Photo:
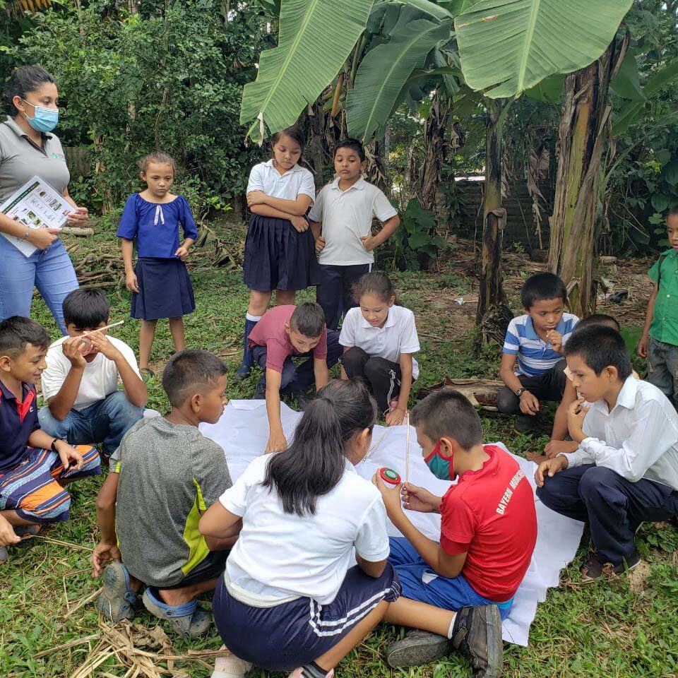
[(610, 114), (609, 82), (624, 59), (627, 44), (627, 38), (613, 40), (600, 59), (565, 81), (549, 268), (563, 279), (570, 310), (580, 317), (595, 312), (593, 278), (600, 233), (596, 212)]

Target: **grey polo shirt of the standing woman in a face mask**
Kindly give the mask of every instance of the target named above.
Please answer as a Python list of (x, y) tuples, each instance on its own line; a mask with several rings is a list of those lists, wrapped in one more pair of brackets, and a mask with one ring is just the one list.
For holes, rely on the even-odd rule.
[(71, 174), (61, 141), (52, 133), (43, 134), (42, 148), (37, 148), (8, 117), (0, 122), (0, 205), (36, 176), (60, 195), (68, 188)]

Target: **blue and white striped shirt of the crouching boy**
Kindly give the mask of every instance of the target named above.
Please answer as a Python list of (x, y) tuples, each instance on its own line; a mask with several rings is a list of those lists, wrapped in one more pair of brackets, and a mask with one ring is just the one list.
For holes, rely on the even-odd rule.
[[(563, 335), (563, 344), (570, 338), (578, 322), (577, 316), (571, 313), (563, 314), (556, 326), (556, 331)], [(516, 374), (526, 376), (544, 374), (562, 358), (560, 353), (554, 351), (548, 342), (537, 335), (532, 318), (528, 314), (518, 316), (509, 323), (502, 351), (518, 356)]]

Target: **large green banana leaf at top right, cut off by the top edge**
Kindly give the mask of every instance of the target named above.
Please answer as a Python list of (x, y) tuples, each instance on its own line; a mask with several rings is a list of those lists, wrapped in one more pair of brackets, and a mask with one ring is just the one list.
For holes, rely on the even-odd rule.
[(454, 20), (468, 85), (514, 97), (605, 52), (633, 0), (481, 0)]

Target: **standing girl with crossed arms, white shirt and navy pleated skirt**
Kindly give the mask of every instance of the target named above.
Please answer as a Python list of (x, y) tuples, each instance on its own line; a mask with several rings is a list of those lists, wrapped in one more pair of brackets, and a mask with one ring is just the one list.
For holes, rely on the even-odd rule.
[(249, 333), (266, 313), (273, 290), (278, 306), (294, 305), (297, 290), (319, 283), (316, 246), (306, 218), (316, 185), (313, 174), (297, 165), (304, 153), (304, 136), (288, 127), (273, 134), (270, 145), (273, 157), (252, 167), (247, 184), (252, 217), (242, 268), (250, 293), (236, 379), (244, 379), (254, 364)]

